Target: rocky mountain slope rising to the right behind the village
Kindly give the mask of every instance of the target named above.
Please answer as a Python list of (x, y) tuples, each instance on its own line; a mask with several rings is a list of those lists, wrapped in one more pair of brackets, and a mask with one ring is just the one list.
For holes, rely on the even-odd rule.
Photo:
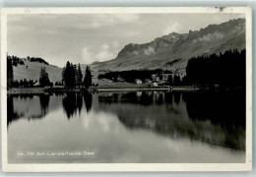
[(155, 40), (126, 45), (113, 60), (93, 63), (94, 70), (172, 69), (185, 72), (193, 56), (245, 48), (245, 20), (230, 20), (220, 25), (189, 33), (172, 32)]

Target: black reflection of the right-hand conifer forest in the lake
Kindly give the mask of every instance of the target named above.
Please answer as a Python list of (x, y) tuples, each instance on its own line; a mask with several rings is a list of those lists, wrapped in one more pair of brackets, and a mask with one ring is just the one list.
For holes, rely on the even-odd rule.
[(194, 121), (210, 120), (228, 130), (245, 127), (245, 95), (240, 92), (185, 92), (183, 99)]

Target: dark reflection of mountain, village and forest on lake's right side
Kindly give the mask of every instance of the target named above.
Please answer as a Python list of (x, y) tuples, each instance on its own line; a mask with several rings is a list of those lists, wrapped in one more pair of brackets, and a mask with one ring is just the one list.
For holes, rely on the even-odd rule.
[[(98, 96), (100, 108), (117, 114), (129, 129), (146, 129), (171, 138), (187, 137), (214, 146), (245, 149), (245, 106), (242, 95), (144, 92), (138, 96), (130, 92), (119, 97), (116, 93)], [(154, 105), (150, 109), (134, 105), (150, 102)], [(114, 106), (107, 106), (106, 103)], [(125, 109), (122, 108), (124, 106)]]

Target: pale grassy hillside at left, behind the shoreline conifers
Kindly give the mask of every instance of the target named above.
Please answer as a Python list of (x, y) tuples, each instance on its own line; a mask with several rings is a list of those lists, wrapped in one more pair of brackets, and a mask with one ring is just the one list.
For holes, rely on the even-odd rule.
[(31, 62), (24, 58), (22, 60), (24, 61), (24, 65), (13, 66), (14, 80), (20, 81), (26, 79), (38, 81), (40, 76), (40, 69), (41, 67), (45, 67), (46, 72), (49, 74), (50, 82), (55, 83), (61, 81), (61, 68), (39, 62)]

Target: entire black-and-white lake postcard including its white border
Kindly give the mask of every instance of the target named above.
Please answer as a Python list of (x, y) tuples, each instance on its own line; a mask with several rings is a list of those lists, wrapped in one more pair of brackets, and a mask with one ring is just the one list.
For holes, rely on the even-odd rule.
[(75, 10), (2, 11), (6, 170), (251, 168), (250, 8)]

